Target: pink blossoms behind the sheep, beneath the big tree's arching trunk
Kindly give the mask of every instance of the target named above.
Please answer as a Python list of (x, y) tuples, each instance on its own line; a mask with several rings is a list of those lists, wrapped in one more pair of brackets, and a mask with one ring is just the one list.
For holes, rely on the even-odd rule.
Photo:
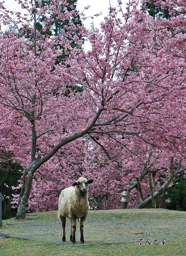
[[(100, 140), (101, 138), (95, 145), (90, 140), (87, 140), (87, 143), (84, 140), (81, 147), (82, 141), (79, 140), (77, 144), (74, 143), (71, 153), (68, 149), (66, 154), (60, 153), (60, 157), (57, 155), (58, 159), (48, 161), (48, 167), (45, 164), (43, 166), (45, 169), (39, 169), (36, 172), (36, 179), (33, 180), (29, 209), (31, 211), (57, 209), (57, 199), (61, 190), (70, 186), (72, 179), (77, 179), (79, 176), (91, 177), (96, 180), (94, 186), (90, 188), (89, 203), (92, 209), (120, 208), (123, 189), (130, 192), (131, 199), (128, 204), (122, 202), (123, 207), (131, 208), (140, 203), (135, 189), (138, 185), (137, 178), (139, 179), (137, 181), (140, 181), (143, 197), (146, 198), (150, 193), (147, 174), (151, 173), (153, 175), (156, 190), (159, 189), (159, 194), (155, 195), (156, 198), (171, 184), (176, 175), (185, 171), (180, 164), (179, 166), (176, 165), (179, 160), (175, 159), (177, 170), (176, 172), (173, 171), (174, 176), (170, 177), (169, 159), (166, 152), (164, 155), (162, 151), (153, 150), (147, 144), (146, 148), (139, 148), (140, 141), (135, 141), (134, 147), (129, 150), (129, 143), (128, 148), (125, 146), (122, 149), (123, 145), (114, 144), (110, 139), (110, 141), (104, 141), (104, 145), (107, 145), (106, 149), (103, 148)], [(111, 145), (110, 148), (109, 145)], [(51, 168), (53, 165), (55, 166), (55, 172), (53, 171), (54, 168)], [(132, 182), (133, 178), (135, 178), (134, 183)], [(160, 189), (160, 181), (166, 182), (167, 186), (164, 185)], [(149, 201), (144, 201), (144, 203), (147, 205)]]

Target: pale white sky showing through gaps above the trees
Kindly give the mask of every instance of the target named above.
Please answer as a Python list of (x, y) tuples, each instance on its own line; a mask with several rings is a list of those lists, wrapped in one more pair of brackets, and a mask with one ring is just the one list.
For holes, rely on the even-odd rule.
[[(125, 8), (125, 5), (124, 5), (125, 2), (127, 2), (127, 0), (123, 0), (123, 5), (122, 5), (123, 9)], [(118, 1), (117, 0), (78, 0), (77, 10), (79, 10), (80, 13), (84, 10), (85, 6), (90, 5), (88, 10), (83, 11), (86, 17), (94, 16), (95, 14), (100, 12), (102, 13), (102, 15), (98, 17), (94, 16), (94, 19), (88, 18), (85, 21), (83, 21), (85, 27), (90, 28), (91, 23), (94, 22), (94, 27), (100, 28), (100, 25), (99, 25), (100, 22), (103, 21), (104, 17), (107, 16), (109, 13), (110, 4), (111, 6), (117, 7)], [(4, 5), (8, 10), (12, 10), (15, 12), (16, 11), (22, 12), (22, 8), (20, 4), (18, 4), (18, 2), (15, 0), (5, 0)], [(86, 42), (84, 45), (84, 49), (88, 50), (89, 47), (90, 47), (90, 44)]]

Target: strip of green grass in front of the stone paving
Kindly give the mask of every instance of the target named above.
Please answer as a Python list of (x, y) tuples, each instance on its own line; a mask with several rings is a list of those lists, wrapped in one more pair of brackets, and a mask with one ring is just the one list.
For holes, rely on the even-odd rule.
[(0, 255), (2, 256), (185, 256), (185, 242), (169, 242), (167, 245), (139, 245), (124, 243), (117, 245), (79, 245), (56, 246), (50, 243), (37, 243), (8, 238), (0, 240)]

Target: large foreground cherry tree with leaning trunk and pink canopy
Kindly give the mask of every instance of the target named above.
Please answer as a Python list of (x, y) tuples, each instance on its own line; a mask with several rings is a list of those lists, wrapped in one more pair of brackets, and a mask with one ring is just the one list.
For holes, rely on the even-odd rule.
[[(34, 175), (44, 169), (46, 174), (49, 168), (55, 173), (57, 162), (63, 165), (60, 154), (70, 155), (75, 141), (86, 136), (102, 146), (116, 169), (132, 166), (136, 142), (143, 152), (151, 145), (185, 164), (184, 1), (155, 1), (170, 10), (169, 20), (149, 16), (144, 1), (142, 10), (137, 8), (139, 1), (129, 1), (126, 12), (119, 10), (123, 19), (111, 7), (101, 32), (93, 26), (91, 30), (75, 26), (71, 17), (78, 19), (78, 13), (73, 6), (67, 10), (68, 1), (52, 0), (49, 6), (39, 0), (18, 2), (29, 14), (17, 13), (14, 20), (0, 3), (1, 22), (13, 24), (0, 38), (0, 104), (18, 116), (16, 125), (27, 140), (26, 148), (24, 143), (23, 150), (14, 151), (7, 142), (11, 155), (20, 162), (26, 159), (16, 218), (25, 217)], [(40, 17), (44, 17), (43, 34), (36, 28)], [(54, 17), (68, 22), (64, 30), (49, 36), (45, 32), (52, 28)], [(77, 30), (91, 42), (87, 53)], [(66, 58), (57, 61), (63, 53)], [(89, 157), (87, 153), (86, 161)], [(84, 174), (96, 176), (101, 168), (92, 171), (94, 164), (87, 162)], [(63, 171), (68, 172), (67, 167)], [(116, 181), (110, 186), (112, 194)]]

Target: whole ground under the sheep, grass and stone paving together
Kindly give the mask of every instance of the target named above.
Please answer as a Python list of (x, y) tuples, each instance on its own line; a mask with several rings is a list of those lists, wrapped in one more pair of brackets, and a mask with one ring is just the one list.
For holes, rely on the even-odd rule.
[[(8, 225), (7, 225), (8, 224)], [(0, 239), (0, 256), (53, 255), (186, 255), (186, 212), (164, 209), (125, 209), (90, 211), (85, 221), (85, 244), (80, 243), (77, 223), (76, 245), (62, 243), (57, 211), (42, 212), (26, 220), (4, 220), (0, 232), (13, 237)], [(161, 245), (161, 239), (167, 245)], [(29, 240), (24, 240), (29, 239)], [(138, 243), (136, 239), (143, 239)], [(149, 245), (146, 241), (151, 243)], [(159, 245), (152, 244), (155, 240)], [(55, 245), (57, 243), (59, 245)], [(146, 245), (144, 245), (146, 243)]]

